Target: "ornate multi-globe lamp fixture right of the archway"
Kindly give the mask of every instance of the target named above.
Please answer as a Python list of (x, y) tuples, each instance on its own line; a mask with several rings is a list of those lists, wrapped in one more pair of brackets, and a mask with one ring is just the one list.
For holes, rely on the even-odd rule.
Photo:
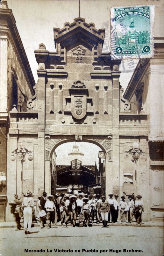
[(127, 158), (129, 158), (128, 154), (132, 156), (132, 159), (131, 159), (132, 162), (137, 161), (140, 155), (142, 155), (142, 160), (146, 161), (146, 152), (139, 148), (139, 144), (137, 142), (134, 142), (133, 147), (130, 150), (125, 152), (126, 152), (125, 156)]

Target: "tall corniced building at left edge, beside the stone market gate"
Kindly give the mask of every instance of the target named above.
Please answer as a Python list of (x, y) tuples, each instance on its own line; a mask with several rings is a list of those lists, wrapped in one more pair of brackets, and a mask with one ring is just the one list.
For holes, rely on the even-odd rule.
[[(6, 1), (1, 1), (0, 7), (0, 220), (4, 221), (6, 189), (11, 190), (11, 193), (17, 192), (15, 187), (12, 190), (10, 182), (6, 184), (7, 166), (10, 166), (10, 162), (7, 161), (7, 140), (14, 141), (12, 134), (15, 134), (14, 137), (18, 135), (18, 131), (14, 130), (15, 127), (10, 122), (10, 110), (26, 111), (26, 103), (34, 94), (35, 81), (12, 10), (8, 8)], [(9, 130), (12, 130), (11, 136), (8, 136)], [(17, 141), (18, 138), (15, 148)], [(11, 180), (11, 184), (17, 179), (17, 168), (13, 168), (12, 175), (8, 176), (7, 180)]]

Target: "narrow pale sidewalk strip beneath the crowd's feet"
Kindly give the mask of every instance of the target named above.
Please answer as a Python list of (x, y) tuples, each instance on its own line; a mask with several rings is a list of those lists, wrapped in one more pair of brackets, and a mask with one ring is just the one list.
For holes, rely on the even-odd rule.
[[(23, 222), (21, 222), (22, 224), (23, 224)], [(32, 222), (33, 224), (34, 224), (34, 226), (38, 226), (39, 227), (39, 225), (40, 225), (40, 223), (39, 222)], [(21, 224), (21, 225), (22, 225)], [(63, 224), (64, 226), (65, 226), (65, 224)], [(108, 223), (108, 225), (110, 225), (110, 226), (137, 226), (136, 225), (136, 222), (135, 221), (132, 221), (131, 223), (129, 223), (129, 222), (123, 222), (123, 223), (121, 223), (119, 220), (118, 220), (118, 222), (116, 222), (116, 223), (111, 223), (110, 222), (110, 224)], [(23, 225), (22, 225), (23, 226)], [(45, 224), (45, 226), (47, 226), (47, 224)], [(51, 226), (54, 226), (54, 224), (52, 224)], [(61, 222), (57, 222), (57, 226), (61, 226)], [(70, 226), (70, 223), (68, 223), (68, 226)], [(102, 226), (102, 223), (96, 223), (96, 222), (94, 222), (94, 223), (92, 223), (92, 226), (94, 227), (94, 226)], [(163, 227), (164, 226), (164, 224), (163, 224), (163, 222), (161, 222), (161, 221), (143, 221), (142, 222), (142, 225), (139, 225), (138, 224), (138, 226), (140, 226), (140, 227)], [(4, 221), (4, 222), (0, 222), (0, 228), (15, 228), (15, 227), (17, 227), (17, 225), (16, 225), (16, 222), (15, 221)]]

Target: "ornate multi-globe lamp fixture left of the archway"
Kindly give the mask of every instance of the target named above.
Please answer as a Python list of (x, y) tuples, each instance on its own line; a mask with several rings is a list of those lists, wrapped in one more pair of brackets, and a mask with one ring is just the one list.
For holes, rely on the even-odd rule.
[(11, 153), (12, 153), (11, 157), (10, 157), (11, 161), (15, 161), (15, 159), (16, 159), (15, 155), (17, 155), (19, 160), (21, 160), (22, 162), (25, 162), (26, 154), (29, 154), (29, 156), (28, 156), (29, 161), (33, 160), (32, 151), (26, 149), (23, 142), (20, 143), (19, 150), (17, 148), (14, 151), (11, 151)]

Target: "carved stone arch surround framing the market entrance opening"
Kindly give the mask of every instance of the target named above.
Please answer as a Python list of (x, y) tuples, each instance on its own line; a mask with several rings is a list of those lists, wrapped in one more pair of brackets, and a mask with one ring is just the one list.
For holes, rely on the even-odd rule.
[(45, 190), (51, 191), (51, 166), (54, 150), (67, 142), (89, 142), (100, 147), (105, 155), (105, 178), (103, 180), (106, 195), (112, 191), (112, 136), (92, 135), (50, 135), (45, 138)]

